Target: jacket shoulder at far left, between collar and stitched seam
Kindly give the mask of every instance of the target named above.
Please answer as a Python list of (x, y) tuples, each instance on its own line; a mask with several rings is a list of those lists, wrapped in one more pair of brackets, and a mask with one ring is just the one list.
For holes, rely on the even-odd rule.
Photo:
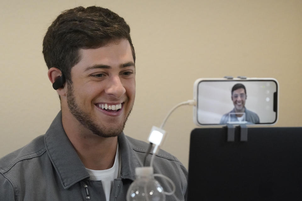
[(3, 156), (0, 159), (0, 173), (4, 174), (20, 161), (36, 158), (45, 151), (44, 135), (38, 136), (24, 147)]

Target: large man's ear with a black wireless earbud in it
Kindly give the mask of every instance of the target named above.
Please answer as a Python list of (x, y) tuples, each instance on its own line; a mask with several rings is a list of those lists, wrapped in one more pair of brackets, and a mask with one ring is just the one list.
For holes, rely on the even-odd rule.
[(48, 70), (48, 78), (50, 82), (53, 84), (53, 88), (57, 90), (60, 96), (65, 95), (65, 78), (59, 68), (50, 68)]

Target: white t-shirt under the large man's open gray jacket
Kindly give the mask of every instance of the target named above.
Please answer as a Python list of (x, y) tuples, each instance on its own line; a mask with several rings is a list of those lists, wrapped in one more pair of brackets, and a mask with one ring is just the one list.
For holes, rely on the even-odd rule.
[(119, 172), (119, 145), (117, 145), (115, 161), (111, 168), (107, 170), (90, 170), (87, 169), (88, 174), (90, 175), (90, 180), (102, 181), (103, 189), (106, 195), (106, 200), (109, 201), (111, 184), (114, 179), (118, 177)]

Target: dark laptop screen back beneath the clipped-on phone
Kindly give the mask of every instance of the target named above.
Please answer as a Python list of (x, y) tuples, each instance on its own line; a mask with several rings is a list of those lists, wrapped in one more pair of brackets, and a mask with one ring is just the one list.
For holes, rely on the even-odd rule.
[(302, 200), (302, 128), (226, 128), (191, 133), (188, 200)]

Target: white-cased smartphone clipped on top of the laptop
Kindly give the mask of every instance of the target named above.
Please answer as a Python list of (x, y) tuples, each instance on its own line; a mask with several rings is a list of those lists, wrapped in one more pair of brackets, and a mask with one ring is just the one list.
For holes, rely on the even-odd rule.
[(278, 120), (279, 84), (274, 78), (200, 78), (193, 94), (198, 126), (273, 125)]

